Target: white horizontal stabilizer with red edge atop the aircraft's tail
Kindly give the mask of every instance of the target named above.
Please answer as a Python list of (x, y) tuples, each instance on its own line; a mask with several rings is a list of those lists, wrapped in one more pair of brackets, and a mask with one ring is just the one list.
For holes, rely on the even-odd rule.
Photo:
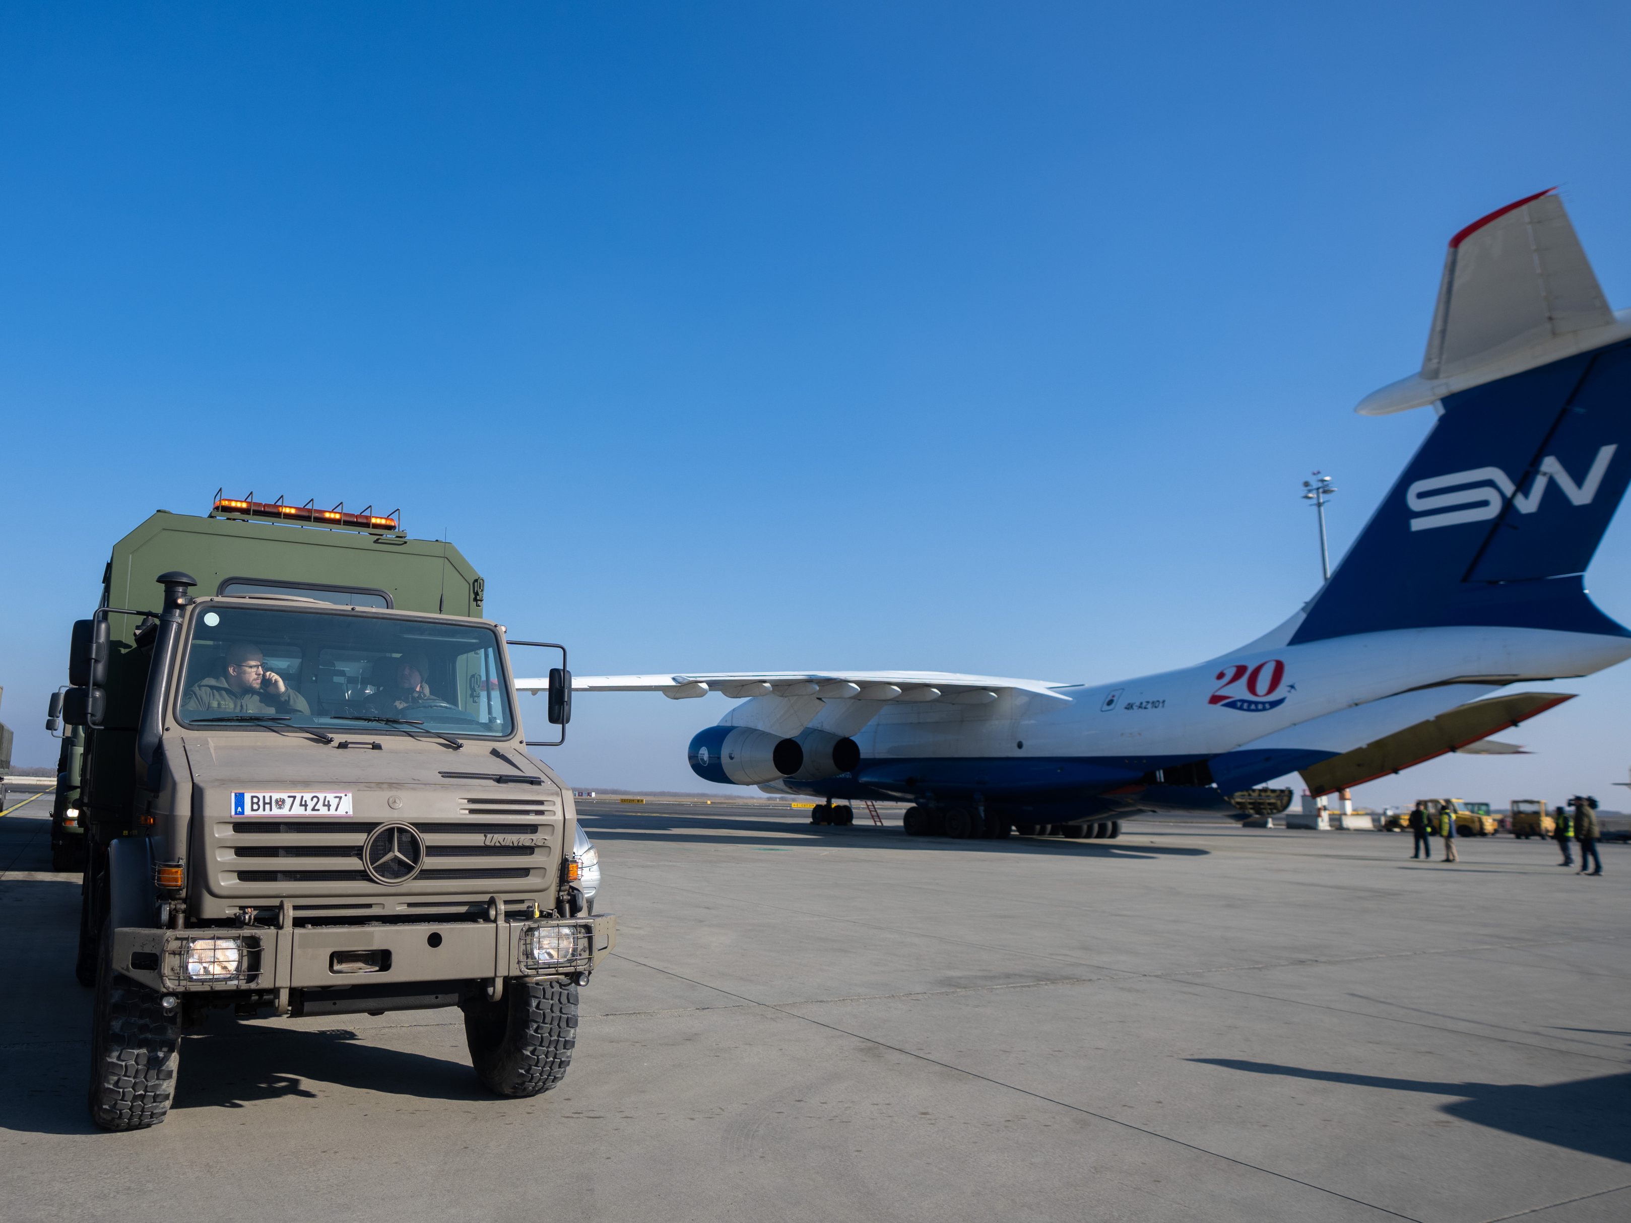
[(1631, 336), (1608, 308), (1556, 189), (1496, 209), (1450, 238), (1421, 373), (1365, 396), (1365, 416), (1456, 391)]

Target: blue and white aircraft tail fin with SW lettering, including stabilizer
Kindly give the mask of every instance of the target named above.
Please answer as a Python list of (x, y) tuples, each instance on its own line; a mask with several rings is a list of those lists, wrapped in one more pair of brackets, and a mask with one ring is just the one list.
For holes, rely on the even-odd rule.
[(1422, 372), (1360, 403), (1439, 422), (1293, 642), (1499, 625), (1631, 636), (1582, 574), (1631, 483), (1631, 311), (1553, 192), (1450, 240)]

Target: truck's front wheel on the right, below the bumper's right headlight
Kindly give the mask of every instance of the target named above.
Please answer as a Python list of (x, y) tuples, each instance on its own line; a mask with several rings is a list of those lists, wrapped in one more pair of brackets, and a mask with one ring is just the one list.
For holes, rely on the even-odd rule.
[(488, 1091), (525, 1099), (566, 1078), (577, 1044), (576, 985), (512, 978), (496, 1003), (463, 1009), (470, 1062)]

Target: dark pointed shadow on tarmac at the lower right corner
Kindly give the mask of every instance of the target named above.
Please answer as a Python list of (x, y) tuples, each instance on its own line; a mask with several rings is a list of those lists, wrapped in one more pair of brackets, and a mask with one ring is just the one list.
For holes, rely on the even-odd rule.
[(1631, 1122), (1624, 1102), (1631, 1094), (1631, 1073), (1582, 1078), (1572, 1083), (1533, 1086), (1528, 1083), (1434, 1083), (1430, 1080), (1346, 1075), (1333, 1070), (1280, 1066), (1272, 1062), (1241, 1062), (1227, 1057), (1196, 1057), (1209, 1066), (1243, 1070), (1251, 1075), (1346, 1083), (1383, 1091), (1419, 1091), (1430, 1096), (1463, 1096), (1442, 1112), (1474, 1125), (1515, 1133), (1522, 1138), (1566, 1146), (1584, 1155), (1631, 1163)]

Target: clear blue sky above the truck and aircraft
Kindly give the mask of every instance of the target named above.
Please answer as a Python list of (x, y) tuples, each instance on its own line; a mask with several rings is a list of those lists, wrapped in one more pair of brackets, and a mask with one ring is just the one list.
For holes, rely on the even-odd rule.
[[(1624, 3), (5, 5), (16, 760), (111, 541), (222, 484), (401, 506), (584, 673), (1236, 646), (1318, 582), (1298, 481), (1341, 548), (1429, 427), (1350, 409), (1450, 233), (1561, 184), (1631, 305), (1628, 62)], [(1631, 806), (1631, 669), (1569, 690), (1359, 797)], [(700, 789), (723, 711), (553, 758)]]

